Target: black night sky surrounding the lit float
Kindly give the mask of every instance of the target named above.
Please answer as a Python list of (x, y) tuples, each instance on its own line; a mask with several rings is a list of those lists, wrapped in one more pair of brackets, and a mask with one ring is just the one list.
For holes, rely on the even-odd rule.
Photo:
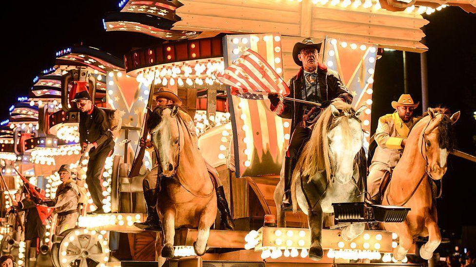
[[(135, 33), (105, 32), (102, 18), (117, 11), (119, 0), (28, 1), (3, 3), (2, 85), (0, 120), (8, 118), (19, 96), (26, 96), (33, 78), (54, 64), (56, 51), (83, 43), (121, 57), (132, 48), (160, 42)], [(24, 5), (22, 7), (22, 5)], [(10, 18), (9, 15), (15, 15)], [(476, 15), (458, 7), (447, 7), (426, 16), (429, 47), (428, 84), (430, 107), (460, 110), (456, 124), (458, 149), (475, 155), (476, 120)], [(407, 53), (409, 89), (421, 99), (420, 55)], [(390, 102), (403, 93), (403, 62), (399, 51), (384, 52), (377, 60), (372, 125), (391, 113)], [(421, 106), (420, 106), (421, 107)], [(421, 114), (421, 109), (417, 114)], [(444, 177), (443, 198), (438, 200), (439, 226), (443, 235), (460, 236), (461, 227), (475, 225), (476, 164), (449, 158)], [(476, 234), (476, 233), (474, 233)], [(475, 237), (476, 239), (476, 237)]]

